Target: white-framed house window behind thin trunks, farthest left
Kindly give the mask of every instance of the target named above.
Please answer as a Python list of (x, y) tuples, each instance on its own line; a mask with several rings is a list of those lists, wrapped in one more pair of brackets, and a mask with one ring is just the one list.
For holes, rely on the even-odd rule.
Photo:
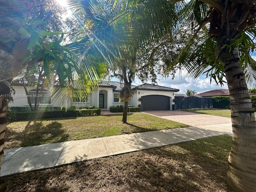
[(30, 98), (31, 103), (39, 102), (40, 104), (51, 104), (51, 95), (50, 91), (48, 90), (42, 90), (42, 93), (40, 94), (40, 90), (36, 94), (36, 90), (30, 90), (28, 92), (28, 97)]

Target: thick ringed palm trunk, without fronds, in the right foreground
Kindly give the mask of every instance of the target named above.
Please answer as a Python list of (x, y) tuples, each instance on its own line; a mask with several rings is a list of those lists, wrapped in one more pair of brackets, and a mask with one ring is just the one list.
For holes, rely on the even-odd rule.
[(236, 191), (256, 190), (256, 121), (248, 88), (240, 66), (238, 48), (225, 60), (230, 92), (232, 147), (226, 168), (226, 182)]

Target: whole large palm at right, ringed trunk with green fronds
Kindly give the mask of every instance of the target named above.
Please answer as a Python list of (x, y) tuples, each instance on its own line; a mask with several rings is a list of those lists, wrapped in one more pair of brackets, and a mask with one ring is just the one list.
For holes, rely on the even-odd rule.
[[(237, 191), (256, 189), (256, 121), (248, 85), (255, 82), (252, 59), (256, 35), (256, 0), (191, 0), (181, 14), (197, 23), (194, 36), (172, 62), (182, 65), (194, 78), (205, 72), (230, 91), (232, 148), (226, 168), (226, 182)], [(198, 40), (194, 37), (200, 36)]]

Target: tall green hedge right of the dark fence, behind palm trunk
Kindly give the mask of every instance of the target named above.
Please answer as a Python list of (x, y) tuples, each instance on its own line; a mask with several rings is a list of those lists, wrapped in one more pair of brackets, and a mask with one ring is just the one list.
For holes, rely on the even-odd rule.
[[(213, 108), (230, 109), (229, 96), (216, 96), (213, 98)], [(256, 112), (256, 95), (250, 95), (252, 100), (252, 108)]]

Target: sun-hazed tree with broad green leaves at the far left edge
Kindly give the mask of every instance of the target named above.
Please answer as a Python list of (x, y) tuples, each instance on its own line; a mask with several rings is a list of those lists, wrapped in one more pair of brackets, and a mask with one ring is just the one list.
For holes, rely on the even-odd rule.
[[(40, 30), (51, 20), (45, 6), (48, 6), (47, 0), (0, 3), (0, 164), (4, 154), (6, 112), (11, 98), (10, 83), (29, 62), (40, 62), (46, 81), (50, 84), (57, 76), (56, 87), (67, 87), (64, 90), (78, 87), (90, 92), (96, 86), (94, 79), (105, 74), (102, 66), (78, 65), (73, 60), (74, 55), (60, 45), (62, 32)], [(56, 36), (57, 40), (46, 43), (41, 38), (45, 36)]]

